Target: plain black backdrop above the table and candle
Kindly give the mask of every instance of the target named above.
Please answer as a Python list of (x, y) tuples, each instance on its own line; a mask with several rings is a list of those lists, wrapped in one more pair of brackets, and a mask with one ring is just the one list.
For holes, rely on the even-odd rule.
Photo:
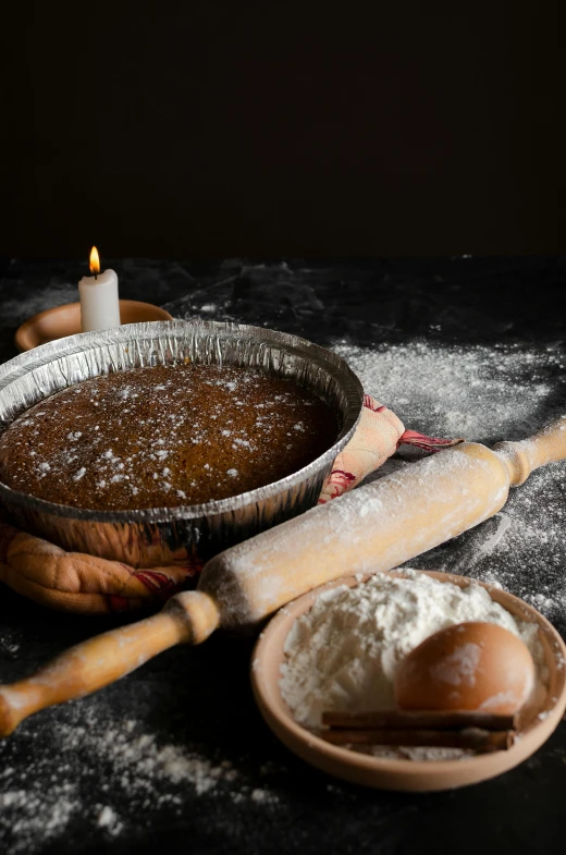
[(564, 247), (557, 2), (10, 5), (0, 255)]

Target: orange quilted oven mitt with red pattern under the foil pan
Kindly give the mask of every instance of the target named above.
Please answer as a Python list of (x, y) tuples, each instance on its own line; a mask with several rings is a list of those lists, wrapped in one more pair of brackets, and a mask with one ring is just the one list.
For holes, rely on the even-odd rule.
[[(319, 503), (352, 490), (401, 444), (433, 452), (462, 441), (405, 430), (391, 410), (365, 395), (356, 432), (334, 461)], [(101, 614), (156, 607), (193, 587), (201, 566), (202, 562), (193, 559), (181, 566), (136, 570), (120, 561), (65, 552), (0, 522), (0, 579), (19, 594), (60, 611)]]

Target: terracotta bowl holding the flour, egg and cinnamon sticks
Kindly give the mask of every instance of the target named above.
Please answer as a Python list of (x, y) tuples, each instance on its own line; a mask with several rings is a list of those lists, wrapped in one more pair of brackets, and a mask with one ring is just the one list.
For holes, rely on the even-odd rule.
[[(426, 572), (439, 582), (452, 582), (466, 587), (475, 579), (448, 573)], [(403, 575), (390, 571), (392, 575)], [(371, 574), (361, 576), (365, 581)], [(409, 760), (372, 757), (348, 748), (331, 745), (303, 728), (294, 720), (291, 710), (281, 697), (279, 687), (280, 668), (284, 661), (283, 645), (294, 621), (307, 612), (322, 590), (337, 585), (354, 587), (360, 576), (346, 576), (330, 585), (316, 588), (282, 609), (269, 623), (256, 646), (251, 684), (261, 714), (275, 735), (292, 752), (324, 772), (367, 786), (401, 791), (450, 790), (466, 784), (485, 781), (513, 769), (530, 757), (556, 729), (566, 708), (566, 647), (556, 630), (536, 609), (518, 597), (506, 594), (483, 583), (495, 602), (522, 621), (536, 623), (544, 651), (547, 669), (546, 685), (541, 685), (531, 708), (521, 711), (519, 738), (508, 750), (495, 752), (453, 760)]]

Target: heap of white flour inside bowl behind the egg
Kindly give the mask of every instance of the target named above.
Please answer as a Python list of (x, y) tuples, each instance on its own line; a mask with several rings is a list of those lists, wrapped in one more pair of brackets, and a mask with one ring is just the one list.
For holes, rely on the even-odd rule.
[(516, 621), (480, 585), (466, 588), (404, 570), (380, 573), (320, 595), (285, 642), (281, 693), (295, 719), (318, 728), (324, 710), (395, 707), (398, 663), (424, 638), (465, 621), (487, 621), (522, 638), (536, 662), (542, 649), (534, 624)]

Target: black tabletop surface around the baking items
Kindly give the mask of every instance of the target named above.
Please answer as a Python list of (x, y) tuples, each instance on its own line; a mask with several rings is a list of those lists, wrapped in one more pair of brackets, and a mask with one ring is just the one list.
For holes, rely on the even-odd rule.
[[(534, 371), (542, 390), (537, 420), (563, 406), (564, 258), (124, 259), (107, 266), (119, 273), (122, 297), (167, 306), (179, 317), (266, 325), (327, 346), (391, 345), (410, 355), (420, 342), (455, 359), (482, 347), (488, 362), (489, 354), (496, 362), (499, 353), (513, 353), (515, 366), (525, 354), (524, 379)], [(22, 321), (76, 300), (84, 273), (75, 261), (5, 264), (0, 361), (15, 355), (13, 334)], [(411, 426), (442, 428), (442, 414), (431, 415), (433, 398), (419, 399), (420, 422)], [(484, 548), (496, 535), (488, 521), (421, 557), (419, 566), (464, 572), (475, 549), (480, 559), (468, 575), (503, 581), (566, 634), (566, 473), (561, 464), (553, 472), (556, 477), (533, 475), (533, 486), (529, 480), (510, 497), (509, 525), (519, 520), (525, 527), (512, 548)], [(529, 527), (521, 502), (531, 502), (537, 526)], [(2, 586), (0, 680), (15, 681), (119, 623), (52, 613)], [(362, 789), (310, 768), (271, 734), (250, 692), (251, 645), (214, 635), (24, 722), (0, 744), (0, 850), (526, 855), (563, 845), (566, 723), (532, 758), (482, 784), (419, 795)]]

